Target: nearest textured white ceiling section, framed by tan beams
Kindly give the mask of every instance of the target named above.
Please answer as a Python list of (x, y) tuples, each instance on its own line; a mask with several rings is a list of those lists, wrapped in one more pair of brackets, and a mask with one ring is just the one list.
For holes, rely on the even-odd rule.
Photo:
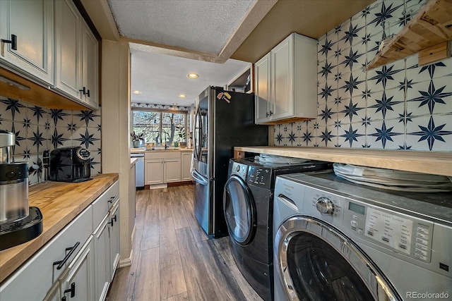
[(108, 0), (119, 33), (220, 54), (254, 0)]

